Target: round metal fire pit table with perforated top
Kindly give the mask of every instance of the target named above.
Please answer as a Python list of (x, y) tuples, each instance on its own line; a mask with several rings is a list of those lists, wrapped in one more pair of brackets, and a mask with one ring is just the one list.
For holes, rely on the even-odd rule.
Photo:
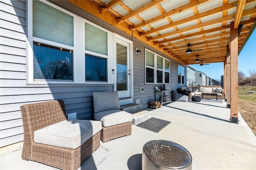
[(142, 149), (142, 170), (192, 170), (188, 150), (168, 140), (151, 140)]

